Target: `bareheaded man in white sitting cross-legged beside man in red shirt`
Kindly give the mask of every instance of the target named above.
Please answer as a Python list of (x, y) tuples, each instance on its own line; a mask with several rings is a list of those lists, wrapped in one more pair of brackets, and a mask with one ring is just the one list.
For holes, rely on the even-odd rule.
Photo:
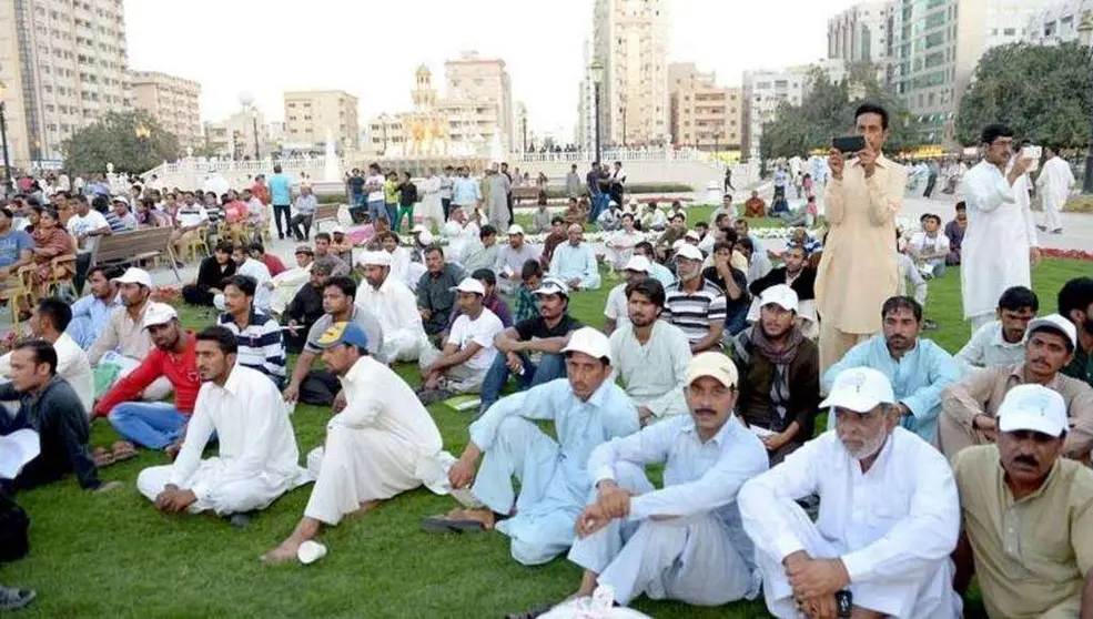
[[(145, 468), (136, 488), (161, 511), (220, 516), (264, 509), (311, 480), (281, 393), (261, 372), (235, 362), (232, 332), (209, 327), (196, 336), (198, 392), (182, 450), (173, 465)], [(215, 433), (220, 455), (201, 454)]]

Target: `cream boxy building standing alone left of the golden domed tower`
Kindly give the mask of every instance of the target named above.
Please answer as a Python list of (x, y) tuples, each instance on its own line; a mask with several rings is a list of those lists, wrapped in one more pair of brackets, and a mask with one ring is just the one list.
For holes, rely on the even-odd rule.
[(284, 93), (285, 138), (296, 148), (326, 148), (326, 135), (341, 152), (356, 151), (361, 133), (356, 97), (344, 90)]

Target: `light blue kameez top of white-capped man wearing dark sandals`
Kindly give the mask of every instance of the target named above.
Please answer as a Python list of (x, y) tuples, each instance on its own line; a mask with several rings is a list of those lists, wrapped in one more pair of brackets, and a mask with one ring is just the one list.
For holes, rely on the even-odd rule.
[[(605, 380), (587, 402), (581, 402), (569, 386), (569, 379), (558, 378), (497, 400), (477, 422), (470, 424), (470, 440), (483, 451), (489, 449), (497, 436), (497, 428), (510, 416), (554, 422), (559, 448), (554, 474), (548, 474), (553, 491), (543, 500), (555, 501), (559, 509), (577, 511), (588, 500), (591, 489), (586, 466), (593, 449), (611, 438), (634, 434), (640, 427), (637, 409), (626, 392), (614, 382)], [(547, 465), (544, 461), (539, 464)], [(540, 475), (543, 473), (539, 471)], [(536, 510), (547, 511), (548, 507), (537, 506)], [(514, 535), (516, 531), (512, 529), (518, 528), (519, 520), (520, 514), (506, 520), (509, 530), (504, 532)]]

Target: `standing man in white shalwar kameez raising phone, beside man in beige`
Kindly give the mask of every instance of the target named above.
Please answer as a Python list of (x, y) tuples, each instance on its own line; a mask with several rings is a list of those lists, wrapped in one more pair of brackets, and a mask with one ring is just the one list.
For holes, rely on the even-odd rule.
[(1030, 264), (1040, 261), (1029, 209), (1026, 172), (1032, 160), (1011, 156), (1013, 131), (1005, 125), (988, 125), (982, 142), (983, 161), (963, 179), (968, 231), (960, 246), (960, 290), (972, 333), (994, 319), (998, 300), (1006, 288), (1032, 287)]

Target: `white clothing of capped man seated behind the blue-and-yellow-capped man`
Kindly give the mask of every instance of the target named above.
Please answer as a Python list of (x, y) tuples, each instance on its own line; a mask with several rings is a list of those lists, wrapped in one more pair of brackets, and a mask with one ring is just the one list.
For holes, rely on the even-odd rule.
[(388, 272), (387, 277), (374, 288), (362, 282), (355, 303), (375, 315), (383, 327), (383, 346), (379, 356), (392, 362), (417, 361), (428, 346), (417, 298), (406, 284)]

